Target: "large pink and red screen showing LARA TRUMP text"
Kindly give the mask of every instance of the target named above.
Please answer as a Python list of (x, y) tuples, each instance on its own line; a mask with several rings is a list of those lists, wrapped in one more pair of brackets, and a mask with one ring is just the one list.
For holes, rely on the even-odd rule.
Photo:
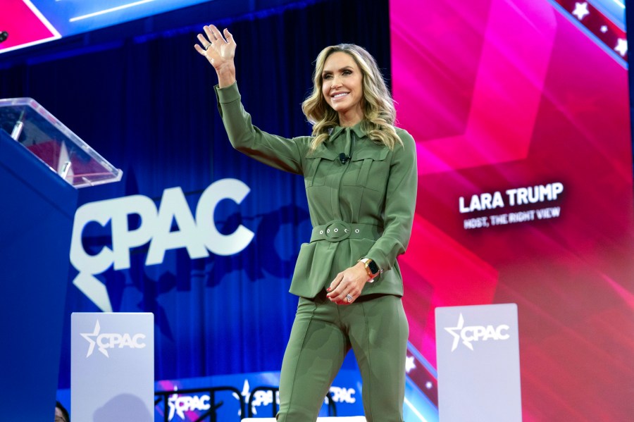
[(413, 355), (437, 364), (437, 306), (516, 303), (523, 421), (634, 411), (623, 7), (390, 2), (392, 87), (418, 151)]

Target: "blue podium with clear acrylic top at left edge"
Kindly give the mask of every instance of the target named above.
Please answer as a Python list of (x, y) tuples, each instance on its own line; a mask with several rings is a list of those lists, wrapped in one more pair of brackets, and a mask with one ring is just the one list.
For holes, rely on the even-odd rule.
[(77, 188), (120, 180), (30, 98), (0, 99), (0, 373), (7, 421), (51, 421)]

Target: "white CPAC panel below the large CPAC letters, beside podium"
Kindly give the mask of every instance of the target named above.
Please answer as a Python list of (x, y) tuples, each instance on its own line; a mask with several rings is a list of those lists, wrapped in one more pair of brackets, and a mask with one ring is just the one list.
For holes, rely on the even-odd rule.
[(74, 421), (154, 421), (154, 315), (73, 313)]

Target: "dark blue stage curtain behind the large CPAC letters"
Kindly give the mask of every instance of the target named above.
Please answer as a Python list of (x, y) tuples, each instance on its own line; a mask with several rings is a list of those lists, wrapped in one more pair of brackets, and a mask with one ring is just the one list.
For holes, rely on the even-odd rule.
[[(235, 178), (251, 190), (240, 205), (221, 202), (215, 216), (221, 232), (242, 224), (255, 233), (242, 252), (190, 259), (181, 248), (146, 266), (144, 244), (130, 251), (129, 269), (97, 275), (113, 311), (154, 313), (156, 380), (279, 370), (297, 306), (287, 290), (299, 244), (311, 230), (302, 178), (230, 147), (213, 94), (215, 72), (193, 49), (196, 34), (213, 19), (194, 15), (169, 32), (111, 37), (46, 56), (40, 49), (0, 63), (0, 97), (35, 98), (124, 170), (119, 183), (81, 190), (80, 204), (142, 194), (158, 207), (163, 190), (181, 187), (194, 213), (212, 182)], [(237, 41), (245, 108), (254, 124), (278, 135), (310, 133), (300, 104), (324, 46), (365, 46), (390, 75), (387, 1), (305, 2), (218, 25)], [(138, 225), (138, 216), (130, 215), (129, 224)], [(87, 225), (83, 242), (93, 254), (111, 247), (111, 225)], [(69, 283), (75, 275), (71, 267)], [(70, 385), (74, 311), (99, 309), (69, 285), (62, 388)]]

